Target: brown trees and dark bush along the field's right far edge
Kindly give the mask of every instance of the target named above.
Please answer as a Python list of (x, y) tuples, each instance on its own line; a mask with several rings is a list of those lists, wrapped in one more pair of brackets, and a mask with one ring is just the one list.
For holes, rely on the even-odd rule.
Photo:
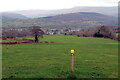
[(73, 31), (70, 32), (69, 35), (76, 35), (78, 37), (103, 37), (103, 38), (119, 40), (119, 37), (116, 37), (116, 33), (109, 26), (99, 26), (96, 28)]

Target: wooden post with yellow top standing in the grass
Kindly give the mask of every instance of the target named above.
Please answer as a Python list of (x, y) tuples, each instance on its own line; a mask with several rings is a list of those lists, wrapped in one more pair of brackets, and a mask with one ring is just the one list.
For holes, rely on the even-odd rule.
[(70, 76), (74, 76), (74, 50), (70, 50)]

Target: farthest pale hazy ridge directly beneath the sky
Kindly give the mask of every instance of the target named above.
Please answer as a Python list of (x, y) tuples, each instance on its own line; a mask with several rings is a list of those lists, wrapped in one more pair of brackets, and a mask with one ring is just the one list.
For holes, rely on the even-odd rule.
[(73, 7), (69, 9), (59, 9), (59, 10), (22, 10), (15, 11), (16, 13), (25, 15), (30, 18), (45, 17), (45, 16), (55, 16), (60, 14), (75, 13), (75, 12), (96, 12), (109, 16), (118, 16), (118, 7)]

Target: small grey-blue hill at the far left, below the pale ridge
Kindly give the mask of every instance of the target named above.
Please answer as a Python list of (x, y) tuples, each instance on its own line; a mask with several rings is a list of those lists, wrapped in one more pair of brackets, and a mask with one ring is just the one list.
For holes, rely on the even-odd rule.
[(2, 21), (3, 22), (28, 19), (26, 16), (18, 14), (18, 13), (3, 12), (1, 14), (2, 14)]

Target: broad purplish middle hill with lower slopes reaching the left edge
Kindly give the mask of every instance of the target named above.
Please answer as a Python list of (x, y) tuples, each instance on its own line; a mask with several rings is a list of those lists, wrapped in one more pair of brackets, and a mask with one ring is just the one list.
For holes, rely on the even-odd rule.
[[(11, 25), (12, 23), (12, 25)], [(16, 24), (17, 23), (17, 24)], [(15, 22), (3, 23), (3, 27), (30, 27), (32, 25), (44, 28), (64, 28), (64, 27), (95, 27), (99, 25), (116, 26), (117, 17), (108, 16), (95, 12), (77, 12), (47, 16)]]

